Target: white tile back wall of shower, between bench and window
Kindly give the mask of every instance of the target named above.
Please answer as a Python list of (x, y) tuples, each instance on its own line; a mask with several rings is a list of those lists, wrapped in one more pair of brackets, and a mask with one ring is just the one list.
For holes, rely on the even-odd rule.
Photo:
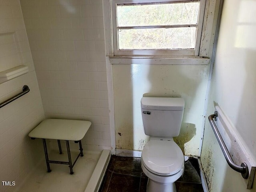
[(90, 120), (110, 147), (102, 0), (20, 0), (47, 118)]

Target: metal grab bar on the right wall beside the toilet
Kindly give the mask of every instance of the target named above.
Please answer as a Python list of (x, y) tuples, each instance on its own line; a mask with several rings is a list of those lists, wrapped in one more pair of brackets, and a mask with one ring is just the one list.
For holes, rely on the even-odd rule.
[(218, 140), (218, 143), (220, 144), (220, 148), (226, 158), (226, 161), (228, 162), (228, 165), (234, 169), (235, 171), (237, 172), (240, 172), (242, 174), (242, 177), (244, 179), (247, 179), (249, 177), (249, 170), (248, 170), (248, 166), (245, 162), (243, 162), (241, 164), (241, 166), (238, 166), (237, 164), (234, 163), (234, 161), (232, 160), (232, 157), (230, 155), (230, 153), (228, 152), (228, 148), (226, 147), (226, 144), (224, 143), (221, 135), (220, 135), (220, 132), (214, 122), (214, 118), (216, 118), (218, 116), (217, 112), (215, 111), (214, 114), (210, 115), (208, 117), (208, 120), (212, 126), (212, 129), (213, 129), (213, 132)]

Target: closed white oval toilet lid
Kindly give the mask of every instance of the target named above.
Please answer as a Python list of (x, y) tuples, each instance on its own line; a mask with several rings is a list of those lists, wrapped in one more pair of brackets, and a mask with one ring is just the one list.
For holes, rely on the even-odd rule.
[(142, 150), (142, 163), (150, 172), (168, 176), (181, 170), (184, 156), (173, 140), (150, 140)]

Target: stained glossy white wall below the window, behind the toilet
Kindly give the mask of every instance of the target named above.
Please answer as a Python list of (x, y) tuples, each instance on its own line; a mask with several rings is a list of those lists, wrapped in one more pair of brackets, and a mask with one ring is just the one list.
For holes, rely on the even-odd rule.
[(182, 97), (185, 110), (176, 142), (186, 155), (198, 156), (204, 120), (204, 100), (210, 65), (112, 65), (116, 148), (142, 150), (144, 134), (140, 99)]

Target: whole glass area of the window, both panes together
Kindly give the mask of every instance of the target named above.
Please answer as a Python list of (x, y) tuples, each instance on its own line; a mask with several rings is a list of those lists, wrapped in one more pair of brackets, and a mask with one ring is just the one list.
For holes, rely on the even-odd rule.
[(118, 50), (194, 49), (199, 2), (116, 4)]

